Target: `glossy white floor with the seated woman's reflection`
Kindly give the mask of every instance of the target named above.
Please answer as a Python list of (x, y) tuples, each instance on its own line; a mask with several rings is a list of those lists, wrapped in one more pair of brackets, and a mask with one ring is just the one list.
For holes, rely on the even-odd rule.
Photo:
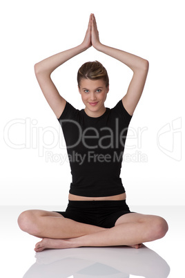
[(1, 268), (3, 278), (181, 278), (184, 275), (185, 206), (134, 207), (145, 214), (156, 214), (168, 221), (163, 239), (135, 250), (128, 247), (74, 248), (35, 253), (32, 237), (17, 225), (23, 210), (64, 210), (64, 207), (0, 207)]

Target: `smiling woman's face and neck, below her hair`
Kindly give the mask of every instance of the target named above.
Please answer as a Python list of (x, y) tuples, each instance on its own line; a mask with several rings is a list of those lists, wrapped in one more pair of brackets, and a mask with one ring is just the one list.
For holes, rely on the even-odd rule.
[(79, 93), (86, 106), (86, 113), (90, 116), (101, 115), (105, 112), (104, 102), (109, 88), (106, 87), (104, 80), (82, 79), (80, 82)]

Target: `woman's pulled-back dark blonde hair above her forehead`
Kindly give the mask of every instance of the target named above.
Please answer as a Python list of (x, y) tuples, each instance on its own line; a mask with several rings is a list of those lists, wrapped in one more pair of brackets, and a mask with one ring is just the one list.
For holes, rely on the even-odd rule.
[(83, 64), (77, 73), (77, 82), (80, 87), (82, 79), (99, 80), (102, 79), (106, 83), (106, 87), (109, 85), (108, 73), (106, 68), (98, 62), (86, 62)]

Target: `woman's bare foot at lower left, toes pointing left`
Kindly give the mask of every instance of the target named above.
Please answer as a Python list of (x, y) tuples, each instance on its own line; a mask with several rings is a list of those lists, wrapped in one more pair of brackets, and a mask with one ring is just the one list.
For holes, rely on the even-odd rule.
[(70, 239), (42, 239), (35, 245), (35, 252), (41, 252), (45, 249), (64, 249), (77, 247)]

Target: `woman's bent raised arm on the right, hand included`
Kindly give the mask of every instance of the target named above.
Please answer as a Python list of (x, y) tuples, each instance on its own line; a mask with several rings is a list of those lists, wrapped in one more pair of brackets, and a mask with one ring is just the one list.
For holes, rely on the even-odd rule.
[(141, 98), (142, 92), (144, 90), (144, 84), (146, 82), (149, 67), (148, 61), (123, 50), (101, 44), (99, 41), (99, 33), (94, 15), (92, 17), (91, 41), (97, 50), (126, 64), (126, 66), (128, 66), (133, 71), (133, 78), (128, 86), (128, 91), (126, 95), (124, 95), (124, 98), (122, 98), (122, 102), (126, 111), (128, 111), (130, 115), (133, 115), (135, 107), (137, 106), (137, 103), (139, 102), (139, 99)]

